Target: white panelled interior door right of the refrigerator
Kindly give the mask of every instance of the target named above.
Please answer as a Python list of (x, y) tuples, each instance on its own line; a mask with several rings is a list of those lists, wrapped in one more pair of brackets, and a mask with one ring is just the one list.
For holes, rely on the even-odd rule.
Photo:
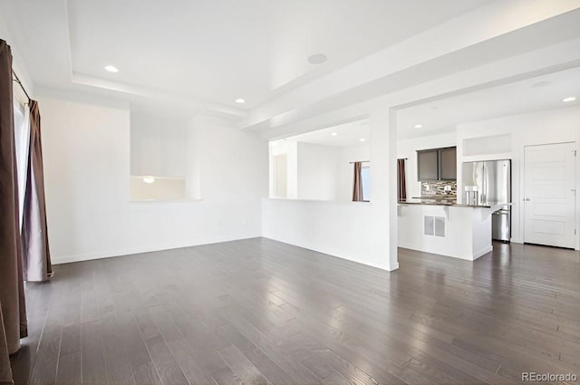
[(524, 241), (574, 248), (575, 144), (525, 149)]

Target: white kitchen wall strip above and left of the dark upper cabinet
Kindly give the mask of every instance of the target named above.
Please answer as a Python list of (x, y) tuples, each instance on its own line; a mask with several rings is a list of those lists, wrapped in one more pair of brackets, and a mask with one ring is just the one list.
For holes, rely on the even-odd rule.
[(407, 159), (405, 162), (405, 178), (408, 198), (420, 197), (420, 181), (417, 180), (417, 150), (439, 149), (456, 145), (456, 132), (397, 141), (397, 158)]

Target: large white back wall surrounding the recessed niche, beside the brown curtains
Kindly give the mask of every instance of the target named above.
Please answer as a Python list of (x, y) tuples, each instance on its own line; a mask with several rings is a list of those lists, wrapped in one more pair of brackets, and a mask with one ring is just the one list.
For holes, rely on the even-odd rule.
[(267, 145), (254, 133), (197, 117), (189, 134), (204, 199), (130, 203), (129, 107), (49, 97), (40, 107), (55, 264), (261, 236)]

